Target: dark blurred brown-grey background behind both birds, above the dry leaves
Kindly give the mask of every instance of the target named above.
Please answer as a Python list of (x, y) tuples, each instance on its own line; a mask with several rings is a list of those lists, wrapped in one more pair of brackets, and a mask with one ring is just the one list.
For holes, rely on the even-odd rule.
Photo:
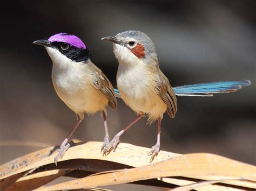
[[(37, 39), (68, 32), (116, 87), (112, 45), (100, 41), (126, 30), (148, 34), (173, 87), (251, 80), (250, 87), (213, 97), (178, 97), (174, 119), (164, 116), (161, 150), (208, 152), (255, 164), (255, 1), (1, 1), (0, 164), (59, 145), (76, 122), (51, 82), (52, 62)], [(118, 99), (108, 111), (111, 138), (136, 116)], [(120, 140), (151, 147), (156, 123), (139, 121)], [(143, 135), (143, 137), (142, 137)], [(100, 114), (85, 117), (75, 135), (102, 141)], [(27, 146), (25, 146), (27, 145)], [(29, 146), (30, 145), (30, 146)]]

